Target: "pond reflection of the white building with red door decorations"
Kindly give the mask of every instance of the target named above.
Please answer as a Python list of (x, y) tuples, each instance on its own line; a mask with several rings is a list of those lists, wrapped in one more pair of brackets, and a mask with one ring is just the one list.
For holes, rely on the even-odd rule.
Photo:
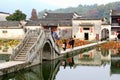
[(74, 57), (75, 64), (78, 65), (101, 65), (101, 55), (96, 54), (95, 50), (91, 50)]

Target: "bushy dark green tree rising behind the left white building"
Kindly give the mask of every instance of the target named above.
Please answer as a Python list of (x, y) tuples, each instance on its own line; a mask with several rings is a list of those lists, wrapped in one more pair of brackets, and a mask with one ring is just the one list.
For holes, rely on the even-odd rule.
[(22, 13), (20, 10), (16, 10), (15, 13), (6, 17), (7, 21), (21, 21), (26, 19), (26, 14)]

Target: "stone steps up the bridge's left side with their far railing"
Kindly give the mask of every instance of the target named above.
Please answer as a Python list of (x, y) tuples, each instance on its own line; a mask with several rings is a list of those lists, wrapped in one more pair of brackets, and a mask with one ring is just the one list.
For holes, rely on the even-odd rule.
[(15, 49), (13, 49), (13, 54), (11, 55), (10, 60), (26, 61), (29, 51), (32, 49), (33, 46), (35, 46), (39, 36), (41, 35), (40, 32), (41, 31), (39, 29), (29, 30), (21, 43)]

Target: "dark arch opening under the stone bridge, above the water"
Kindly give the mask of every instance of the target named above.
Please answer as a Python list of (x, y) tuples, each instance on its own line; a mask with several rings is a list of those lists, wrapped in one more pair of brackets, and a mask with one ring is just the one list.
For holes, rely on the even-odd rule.
[(52, 54), (52, 46), (49, 41), (47, 41), (43, 46), (42, 58), (43, 60), (50, 60)]

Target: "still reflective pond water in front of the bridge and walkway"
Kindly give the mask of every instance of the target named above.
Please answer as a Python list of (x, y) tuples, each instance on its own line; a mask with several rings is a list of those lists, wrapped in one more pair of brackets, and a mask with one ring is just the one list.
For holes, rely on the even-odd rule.
[[(119, 51), (98, 49), (7, 74), (0, 80), (120, 80)], [(118, 56), (117, 56), (118, 55)]]

